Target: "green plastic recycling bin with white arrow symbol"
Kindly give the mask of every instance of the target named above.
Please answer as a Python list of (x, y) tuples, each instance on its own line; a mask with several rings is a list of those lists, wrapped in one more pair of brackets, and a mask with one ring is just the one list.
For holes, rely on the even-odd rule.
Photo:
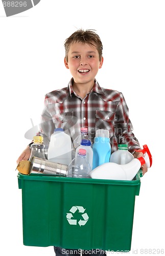
[(120, 181), (18, 173), (23, 244), (129, 251), (140, 174)]

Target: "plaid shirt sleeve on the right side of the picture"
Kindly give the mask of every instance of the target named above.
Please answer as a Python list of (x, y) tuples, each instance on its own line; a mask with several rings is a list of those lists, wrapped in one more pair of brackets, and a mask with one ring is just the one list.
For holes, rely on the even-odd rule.
[(120, 93), (120, 102), (116, 109), (114, 129), (117, 144), (127, 144), (128, 150), (132, 154), (140, 148), (139, 142), (132, 132), (133, 126), (129, 119), (129, 109), (122, 93)]

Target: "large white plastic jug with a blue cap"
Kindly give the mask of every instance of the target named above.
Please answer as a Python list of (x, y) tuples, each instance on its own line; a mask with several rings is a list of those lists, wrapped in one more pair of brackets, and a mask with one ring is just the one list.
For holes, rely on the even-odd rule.
[(72, 141), (62, 128), (57, 128), (51, 135), (48, 147), (48, 160), (69, 165), (72, 161)]

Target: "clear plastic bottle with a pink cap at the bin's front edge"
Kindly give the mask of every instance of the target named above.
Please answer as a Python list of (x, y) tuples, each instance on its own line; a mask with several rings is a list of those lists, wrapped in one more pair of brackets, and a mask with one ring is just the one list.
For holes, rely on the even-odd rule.
[(90, 164), (86, 159), (86, 150), (80, 148), (78, 155), (68, 166), (68, 177), (89, 178), (90, 171)]

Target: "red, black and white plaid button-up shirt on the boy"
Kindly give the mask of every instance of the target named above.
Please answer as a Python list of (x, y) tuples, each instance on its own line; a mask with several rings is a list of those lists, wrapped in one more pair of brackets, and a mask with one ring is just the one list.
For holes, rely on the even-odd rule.
[(117, 144), (128, 144), (131, 153), (140, 148), (122, 93), (101, 88), (95, 80), (92, 90), (82, 99), (74, 92), (72, 83), (73, 78), (68, 87), (45, 95), (40, 124), (45, 146), (55, 128), (63, 128), (74, 141), (80, 128), (87, 127), (92, 143), (97, 129), (109, 131), (111, 152), (117, 150)]

